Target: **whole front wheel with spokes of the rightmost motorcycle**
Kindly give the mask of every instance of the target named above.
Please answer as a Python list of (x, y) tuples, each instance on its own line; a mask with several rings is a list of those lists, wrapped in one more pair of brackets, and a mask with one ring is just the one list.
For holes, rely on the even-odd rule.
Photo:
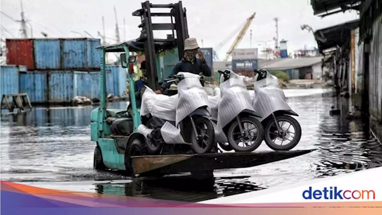
[[(279, 151), (289, 151), (292, 148), (295, 148), (298, 142), (301, 139), (301, 126), (298, 121), (291, 116), (276, 116), (277, 122), (283, 129), (283, 134), (278, 134), (276, 123), (273, 119), (270, 119), (265, 125), (265, 143), (272, 150)], [(281, 122), (281, 124), (280, 124)], [(285, 130), (284, 124), (288, 122), (290, 125)], [(293, 126), (295, 132), (290, 132), (290, 127)], [(285, 126), (286, 127), (286, 126)], [(292, 140), (290, 140), (290, 135), (294, 134)], [(278, 145), (275, 143), (277, 139), (281, 139), (281, 144)], [(290, 142), (286, 145), (282, 145), (285, 140)]]

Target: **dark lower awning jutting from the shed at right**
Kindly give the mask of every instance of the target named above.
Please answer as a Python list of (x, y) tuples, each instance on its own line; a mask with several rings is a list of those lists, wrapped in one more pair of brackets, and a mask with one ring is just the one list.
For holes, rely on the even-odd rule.
[(336, 46), (350, 46), (350, 32), (358, 28), (358, 26), (359, 19), (315, 31), (314, 37), (317, 41), (318, 49), (322, 52), (325, 49)]

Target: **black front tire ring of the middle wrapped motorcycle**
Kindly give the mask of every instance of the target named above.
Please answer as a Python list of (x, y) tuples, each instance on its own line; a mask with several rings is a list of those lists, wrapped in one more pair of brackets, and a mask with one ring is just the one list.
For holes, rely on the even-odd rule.
[(243, 118), (240, 118), (240, 121), (241, 121), (241, 123), (249, 122), (249, 123), (255, 125), (256, 129), (257, 129), (257, 137), (254, 140), (254, 143), (248, 147), (241, 147), (241, 146), (235, 144), (233, 133), (236, 129), (239, 129), (239, 123), (237, 120), (234, 120), (233, 122), (231, 122), (231, 125), (227, 130), (227, 139), (228, 139), (228, 142), (230, 143), (230, 146), (235, 151), (241, 151), (241, 152), (243, 152), (243, 151), (249, 152), (249, 151), (256, 150), (256, 148), (258, 148), (261, 145), (262, 141), (264, 140), (264, 127), (262, 126), (261, 122), (259, 122), (254, 117), (243, 117)]

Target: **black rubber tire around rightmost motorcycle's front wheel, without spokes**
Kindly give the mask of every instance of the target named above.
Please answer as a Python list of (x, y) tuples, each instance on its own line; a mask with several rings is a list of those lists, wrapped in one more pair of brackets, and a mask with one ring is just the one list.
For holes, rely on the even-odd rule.
[(265, 125), (264, 132), (265, 132), (265, 143), (269, 148), (275, 151), (289, 151), (292, 148), (295, 148), (298, 142), (301, 139), (301, 126), (298, 123), (298, 121), (291, 117), (291, 116), (276, 116), (277, 121), (286, 121), (289, 122), (295, 129), (295, 137), (293, 137), (293, 140), (286, 144), (286, 145), (277, 145), (272, 141), (272, 129), (275, 130), (273, 127), (275, 127), (275, 121), (273, 119), (270, 119), (267, 124)]

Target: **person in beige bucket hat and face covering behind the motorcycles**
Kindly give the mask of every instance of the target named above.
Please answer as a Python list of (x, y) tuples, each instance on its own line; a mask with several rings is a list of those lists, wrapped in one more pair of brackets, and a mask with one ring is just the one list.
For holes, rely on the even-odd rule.
[[(211, 76), (211, 68), (207, 65), (203, 52), (199, 50), (196, 38), (185, 39), (184, 51), (185, 54), (183, 55), (183, 58), (175, 65), (168, 78), (172, 78), (178, 72), (190, 72), (206, 77)], [(196, 59), (196, 54), (199, 55), (199, 59)], [(163, 91), (167, 90), (171, 84), (172, 83), (164, 82), (155, 93), (161, 94)], [(204, 85), (204, 83), (202, 83), (202, 85)]]

